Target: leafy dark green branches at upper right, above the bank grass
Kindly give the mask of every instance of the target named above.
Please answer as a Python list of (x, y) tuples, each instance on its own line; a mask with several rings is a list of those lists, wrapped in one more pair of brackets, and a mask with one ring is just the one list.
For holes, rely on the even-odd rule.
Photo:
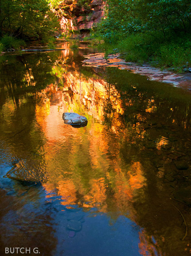
[(106, 19), (99, 31), (106, 42), (115, 43), (135, 33), (190, 33), (190, 0), (108, 0)]

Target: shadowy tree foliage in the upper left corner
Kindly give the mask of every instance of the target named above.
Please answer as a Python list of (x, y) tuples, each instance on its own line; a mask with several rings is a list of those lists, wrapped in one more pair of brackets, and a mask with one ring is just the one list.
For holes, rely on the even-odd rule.
[(48, 37), (58, 28), (47, 0), (0, 0), (0, 37)]

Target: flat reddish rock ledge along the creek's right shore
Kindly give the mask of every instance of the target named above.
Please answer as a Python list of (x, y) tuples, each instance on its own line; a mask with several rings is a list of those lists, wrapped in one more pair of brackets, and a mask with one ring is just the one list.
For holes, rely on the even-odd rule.
[(104, 53), (94, 53), (86, 57), (86, 60), (82, 61), (83, 66), (92, 67), (117, 67), (119, 69), (126, 69), (132, 73), (144, 75), (148, 77), (148, 80), (159, 81), (172, 84), (176, 87), (181, 87), (187, 90), (191, 90), (191, 72), (188, 73), (172, 73), (171, 71), (164, 69), (161, 71), (158, 68), (154, 68), (148, 64), (138, 65), (134, 62), (127, 62), (120, 58), (120, 54), (110, 54), (107, 59), (104, 58)]

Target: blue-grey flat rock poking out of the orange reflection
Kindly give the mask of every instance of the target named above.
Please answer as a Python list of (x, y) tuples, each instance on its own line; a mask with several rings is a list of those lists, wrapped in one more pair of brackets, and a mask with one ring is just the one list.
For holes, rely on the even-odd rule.
[(64, 120), (65, 124), (72, 126), (86, 126), (88, 122), (86, 117), (77, 113), (63, 113), (62, 119)]

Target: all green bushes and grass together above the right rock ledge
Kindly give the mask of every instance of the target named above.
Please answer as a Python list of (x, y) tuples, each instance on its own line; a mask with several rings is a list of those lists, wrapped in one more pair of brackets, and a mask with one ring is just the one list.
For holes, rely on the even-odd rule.
[(190, 0), (107, 0), (98, 33), (105, 56), (117, 49), (126, 61), (191, 66)]

